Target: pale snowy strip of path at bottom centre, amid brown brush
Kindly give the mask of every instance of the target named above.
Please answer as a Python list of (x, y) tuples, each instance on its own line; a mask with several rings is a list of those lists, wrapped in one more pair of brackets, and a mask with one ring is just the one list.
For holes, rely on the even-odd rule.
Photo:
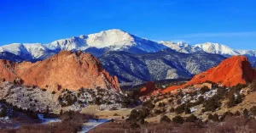
[(96, 128), (98, 125), (102, 125), (103, 123), (109, 122), (111, 119), (90, 119), (87, 123), (84, 123), (83, 129), (79, 131), (79, 133), (86, 133), (89, 130)]

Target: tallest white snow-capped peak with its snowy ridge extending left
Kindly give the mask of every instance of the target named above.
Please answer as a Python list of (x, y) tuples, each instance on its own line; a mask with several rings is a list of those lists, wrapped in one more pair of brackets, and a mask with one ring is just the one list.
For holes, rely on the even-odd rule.
[(0, 47), (0, 53), (13, 53), (26, 60), (41, 60), (61, 50), (84, 51), (101, 56), (108, 51), (155, 53), (168, 48), (158, 42), (131, 35), (123, 30), (104, 30), (96, 34), (61, 39), (49, 44), (13, 43)]

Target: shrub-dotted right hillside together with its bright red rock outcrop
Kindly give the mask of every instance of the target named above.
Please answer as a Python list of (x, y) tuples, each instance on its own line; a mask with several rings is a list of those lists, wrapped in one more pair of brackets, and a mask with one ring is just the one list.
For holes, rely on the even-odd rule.
[[(234, 56), (195, 75), (187, 83), (167, 87), (164, 91), (148, 82), (141, 89), (141, 92), (148, 93), (140, 98), (143, 106), (131, 111), (121, 129), (253, 133), (256, 130), (253, 126), (256, 116), (255, 74), (247, 57)], [(242, 129), (237, 127), (240, 122), (243, 123)], [(153, 123), (159, 127), (152, 128)], [(106, 126), (103, 129), (110, 130)], [(101, 132), (101, 128), (96, 132)]]

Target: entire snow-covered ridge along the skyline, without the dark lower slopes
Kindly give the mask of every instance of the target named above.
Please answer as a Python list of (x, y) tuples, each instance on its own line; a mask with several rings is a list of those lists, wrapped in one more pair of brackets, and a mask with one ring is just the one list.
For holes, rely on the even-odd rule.
[(49, 58), (62, 50), (83, 51), (96, 57), (109, 51), (129, 53), (156, 53), (171, 48), (179, 53), (217, 53), (227, 58), (234, 55), (247, 55), (250, 61), (256, 61), (256, 50), (236, 50), (223, 44), (206, 42), (189, 45), (186, 42), (154, 42), (134, 36), (124, 30), (102, 30), (98, 33), (59, 39), (47, 44), (11, 43), (0, 47), (0, 53), (13, 53), (26, 61), (38, 61)]

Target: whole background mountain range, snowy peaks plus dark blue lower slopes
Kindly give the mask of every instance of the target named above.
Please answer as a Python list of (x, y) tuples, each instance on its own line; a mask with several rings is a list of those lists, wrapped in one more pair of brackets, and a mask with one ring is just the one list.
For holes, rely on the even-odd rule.
[(92, 53), (104, 69), (124, 83), (192, 78), (234, 55), (246, 55), (256, 66), (256, 50), (236, 50), (211, 42), (195, 46), (186, 42), (154, 42), (116, 29), (48, 44), (12, 43), (0, 47), (0, 58), (36, 62), (63, 50)]

